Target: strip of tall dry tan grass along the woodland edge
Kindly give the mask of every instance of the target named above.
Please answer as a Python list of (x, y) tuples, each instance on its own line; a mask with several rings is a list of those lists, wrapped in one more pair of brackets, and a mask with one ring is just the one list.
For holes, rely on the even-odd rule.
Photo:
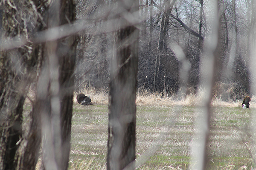
[[(86, 89), (84, 88), (80, 93), (85, 94), (86, 96), (90, 95), (90, 98), (92, 99), (92, 103), (94, 105), (108, 105), (108, 91), (98, 91), (95, 88)], [(76, 102), (76, 96), (78, 95), (74, 94), (74, 101)], [(180, 94), (180, 97), (178, 95), (166, 97), (162, 96), (158, 92), (156, 93), (149, 93), (147, 91), (144, 91), (143, 94), (137, 93), (136, 97), (136, 104), (139, 106), (173, 106), (173, 105), (179, 105), (179, 106), (201, 106), (202, 101), (204, 101), (205, 96), (205, 90), (199, 89), (197, 94)], [(252, 96), (252, 101), (250, 102), (250, 108), (256, 107), (255, 97)], [(240, 107), (242, 103), (242, 100), (237, 100), (235, 102), (225, 102), (220, 97), (215, 96), (212, 99), (212, 106), (218, 106), (218, 107)]]

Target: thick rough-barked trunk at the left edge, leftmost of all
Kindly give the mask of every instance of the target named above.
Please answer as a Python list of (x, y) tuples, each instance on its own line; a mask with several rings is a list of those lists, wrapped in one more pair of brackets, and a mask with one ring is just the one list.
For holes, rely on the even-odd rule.
[[(3, 39), (29, 37), (26, 18), (34, 18), (32, 5), (26, 1), (2, 3), (0, 8)], [(30, 12), (28, 12), (30, 11)], [(13, 17), (15, 16), (15, 17)], [(35, 22), (36, 23), (36, 22)], [(30, 31), (35, 31), (31, 28)], [(19, 39), (18, 39), (19, 40)], [(4, 44), (5, 41), (2, 41)], [(16, 169), (17, 149), (21, 146), (23, 103), (31, 82), (36, 77), (38, 56), (33, 56), (34, 45), (5, 51), (0, 54), (0, 169)]]

